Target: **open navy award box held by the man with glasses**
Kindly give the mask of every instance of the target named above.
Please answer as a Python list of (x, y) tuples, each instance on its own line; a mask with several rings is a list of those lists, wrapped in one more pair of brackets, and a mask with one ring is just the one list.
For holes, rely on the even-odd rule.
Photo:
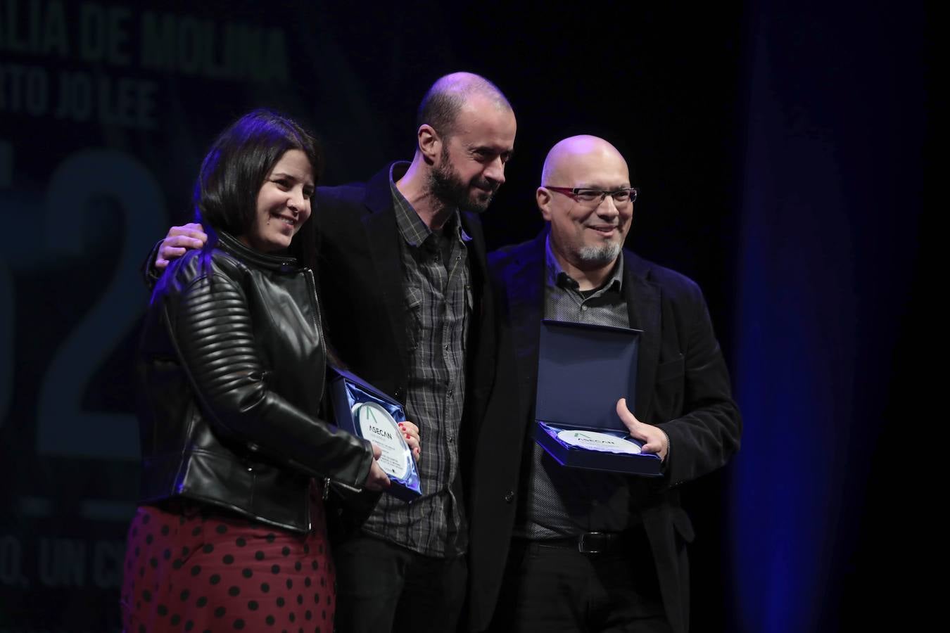
[(658, 456), (641, 453), (617, 415), (633, 410), (642, 332), (544, 319), (538, 355), (535, 439), (562, 466), (659, 475)]

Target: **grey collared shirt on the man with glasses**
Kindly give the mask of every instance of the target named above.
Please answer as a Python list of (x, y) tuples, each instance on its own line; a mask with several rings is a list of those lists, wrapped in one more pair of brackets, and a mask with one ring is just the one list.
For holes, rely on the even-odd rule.
[[(623, 252), (607, 282), (594, 291), (581, 291), (561, 268), (546, 244), (544, 318), (597, 326), (629, 327), (623, 298)], [(584, 531), (623, 531), (634, 520), (630, 512), (627, 477), (565, 468), (535, 442), (526, 449), (522, 498), (527, 503), (515, 533), (531, 539), (576, 536)]]

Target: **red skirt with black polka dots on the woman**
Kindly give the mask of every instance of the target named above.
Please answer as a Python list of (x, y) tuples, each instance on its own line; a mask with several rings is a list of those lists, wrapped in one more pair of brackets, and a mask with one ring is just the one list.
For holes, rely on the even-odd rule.
[(281, 531), (198, 503), (142, 506), (128, 531), (123, 630), (331, 633), (335, 572), (323, 507)]

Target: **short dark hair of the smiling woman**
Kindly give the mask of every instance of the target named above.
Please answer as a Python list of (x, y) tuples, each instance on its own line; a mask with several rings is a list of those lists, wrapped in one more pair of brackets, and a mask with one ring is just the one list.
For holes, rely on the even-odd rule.
[[(208, 233), (207, 249), (217, 243), (214, 232), (247, 233), (257, 214), (257, 194), (283, 155), (303, 152), (314, 169), (314, 184), (323, 171), (319, 145), (296, 121), (267, 109), (248, 112), (220, 133), (201, 162), (192, 196), (195, 221)], [(313, 214), (291, 242), (291, 253), (306, 266), (315, 264)]]

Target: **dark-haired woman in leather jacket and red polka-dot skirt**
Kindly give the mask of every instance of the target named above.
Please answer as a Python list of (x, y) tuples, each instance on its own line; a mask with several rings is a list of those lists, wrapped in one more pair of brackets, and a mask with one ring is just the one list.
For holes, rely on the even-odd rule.
[(256, 110), (201, 165), (208, 242), (164, 271), (143, 326), (130, 633), (333, 630), (323, 487), (390, 481), (378, 449), (319, 418), (327, 346), (307, 266), (321, 163), (299, 125)]

